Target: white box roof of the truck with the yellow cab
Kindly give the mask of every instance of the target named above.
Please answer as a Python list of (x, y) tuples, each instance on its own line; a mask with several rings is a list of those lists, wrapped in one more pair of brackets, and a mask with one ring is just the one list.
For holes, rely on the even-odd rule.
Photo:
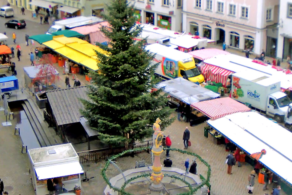
[(166, 58), (169, 58), (169, 59), (172, 59), (175, 61), (180, 61), (183, 59), (193, 57), (192, 55), (190, 55), (188, 53), (184, 53), (182, 51), (178, 51), (176, 49), (169, 48), (169, 47), (161, 45), (159, 43), (147, 45), (145, 47), (145, 49), (151, 51), (152, 53), (157, 53), (159, 55), (162, 55)]

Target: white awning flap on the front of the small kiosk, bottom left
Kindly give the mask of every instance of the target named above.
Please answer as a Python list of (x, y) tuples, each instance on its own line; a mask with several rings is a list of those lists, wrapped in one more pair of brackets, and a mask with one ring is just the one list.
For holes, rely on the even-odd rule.
[(35, 172), (38, 180), (84, 173), (78, 161), (35, 167)]

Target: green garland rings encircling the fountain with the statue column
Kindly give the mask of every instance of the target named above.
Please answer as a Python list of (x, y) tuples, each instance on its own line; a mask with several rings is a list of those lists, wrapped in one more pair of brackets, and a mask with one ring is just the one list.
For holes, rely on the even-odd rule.
[[(105, 164), (105, 167), (101, 170), (101, 175), (103, 177), (103, 179), (105, 180), (105, 182), (109, 185), (109, 188), (115, 190), (115, 191), (118, 191), (120, 192), (122, 195), (133, 195), (131, 193), (128, 193), (126, 191), (124, 191), (125, 187), (127, 184), (129, 184), (131, 181), (134, 181), (138, 178), (141, 178), (141, 177), (149, 177), (150, 176), (150, 173), (146, 173), (146, 174), (142, 174), (142, 175), (138, 175), (138, 176), (135, 176), (135, 177), (131, 177), (130, 179), (128, 179), (124, 185), (122, 185), (122, 187), (119, 189), (119, 188), (116, 188), (114, 186), (112, 186), (112, 184), (109, 182), (105, 172), (106, 170), (108, 169), (109, 167), (109, 164), (110, 164), (110, 160), (114, 160), (116, 158), (119, 158), (121, 156), (124, 156), (125, 154), (127, 153), (131, 153), (131, 152), (139, 152), (139, 151), (143, 151), (143, 150), (149, 150), (151, 149), (151, 147), (144, 147), (144, 148), (134, 148), (134, 149), (130, 149), (130, 150), (125, 150), (119, 154), (116, 154), (116, 155), (113, 155), (111, 156), (106, 164)], [(166, 176), (169, 176), (169, 177), (172, 177), (174, 179), (177, 179), (177, 180), (180, 180), (182, 181), (183, 183), (185, 183), (186, 185), (188, 185), (189, 189), (190, 189), (190, 192), (187, 192), (187, 193), (180, 193), (180, 194), (177, 194), (177, 195), (190, 195), (190, 194), (194, 194), (199, 188), (203, 187), (203, 185), (207, 184), (209, 181), (210, 181), (210, 177), (211, 177), (211, 166), (207, 163), (207, 161), (203, 160), (201, 158), (201, 156), (193, 153), (193, 152), (187, 152), (185, 150), (181, 150), (181, 149), (176, 149), (176, 148), (163, 148), (164, 150), (166, 149), (169, 149), (169, 150), (172, 150), (172, 151), (177, 151), (177, 152), (180, 152), (180, 153), (183, 153), (183, 154), (188, 154), (188, 155), (191, 155), (191, 156), (195, 156), (197, 157), (204, 165), (207, 166), (208, 168), (208, 171), (207, 171), (207, 178), (205, 181), (203, 181), (200, 185), (196, 186), (195, 188), (192, 187), (192, 185), (190, 183), (188, 183), (187, 181), (184, 181), (182, 178), (180, 177), (176, 177), (174, 175), (168, 175), (168, 174), (165, 174)]]

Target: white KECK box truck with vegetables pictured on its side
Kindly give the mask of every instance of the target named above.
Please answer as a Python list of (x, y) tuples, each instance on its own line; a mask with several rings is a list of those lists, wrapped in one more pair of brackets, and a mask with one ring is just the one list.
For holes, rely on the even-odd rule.
[(253, 70), (232, 74), (231, 97), (274, 117), (278, 123), (285, 120), (291, 103), (277, 77)]

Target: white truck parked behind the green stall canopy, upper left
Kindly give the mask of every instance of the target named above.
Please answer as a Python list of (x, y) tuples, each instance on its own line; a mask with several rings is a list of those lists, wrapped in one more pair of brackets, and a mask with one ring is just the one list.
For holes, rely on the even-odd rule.
[(103, 19), (95, 16), (77, 16), (74, 18), (68, 18), (64, 20), (55, 21), (55, 25), (51, 26), (46, 34), (51, 35), (54, 32), (75, 28), (77, 26), (93, 25), (102, 22)]

